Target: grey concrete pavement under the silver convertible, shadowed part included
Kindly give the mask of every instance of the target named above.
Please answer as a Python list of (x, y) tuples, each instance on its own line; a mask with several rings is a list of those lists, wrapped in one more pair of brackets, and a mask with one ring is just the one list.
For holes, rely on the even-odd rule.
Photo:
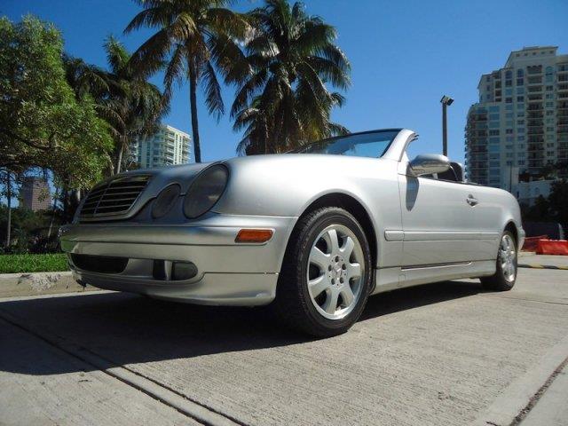
[(0, 424), (560, 425), (567, 357), (566, 271), (373, 296), (324, 340), (261, 309), (0, 299)]

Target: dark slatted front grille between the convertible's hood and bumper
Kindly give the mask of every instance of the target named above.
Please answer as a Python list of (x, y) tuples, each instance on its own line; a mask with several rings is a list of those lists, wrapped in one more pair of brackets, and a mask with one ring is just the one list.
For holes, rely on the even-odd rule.
[(146, 188), (148, 180), (149, 176), (118, 177), (95, 186), (87, 195), (80, 218), (123, 215)]

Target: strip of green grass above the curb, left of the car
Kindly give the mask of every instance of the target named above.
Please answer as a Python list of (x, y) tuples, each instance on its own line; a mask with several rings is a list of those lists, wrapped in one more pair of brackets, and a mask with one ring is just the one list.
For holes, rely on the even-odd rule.
[(0, 255), (0, 273), (68, 271), (67, 255)]

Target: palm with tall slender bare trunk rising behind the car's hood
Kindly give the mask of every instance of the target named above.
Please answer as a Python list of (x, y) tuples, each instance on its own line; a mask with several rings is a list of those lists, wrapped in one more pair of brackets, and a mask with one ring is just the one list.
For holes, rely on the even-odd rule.
[(125, 33), (157, 28), (132, 55), (134, 69), (151, 75), (165, 68), (164, 94), (170, 99), (174, 83), (189, 80), (189, 100), (195, 161), (201, 162), (197, 117), (197, 86), (201, 83), (209, 114), (225, 113), (217, 70), (225, 82), (236, 83), (250, 70), (238, 40), (249, 31), (245, 17), (226, 8), (231, 0), (135, 0), (144, 10), (130, 21)]

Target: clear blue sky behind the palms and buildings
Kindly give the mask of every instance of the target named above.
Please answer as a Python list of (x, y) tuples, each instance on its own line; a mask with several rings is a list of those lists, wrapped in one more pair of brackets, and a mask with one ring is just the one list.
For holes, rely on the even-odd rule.
[[(241, 0), (241, 11), (262, 4)], [(337, 43), (351, 60), (352, 85), (347, 104), (333, 118), (351, 131), (385, 127), (416, 130), (421, 141), (414, 154), (441, 151), (439, 99), (455, 99), (449, 109), (449, 154), (463, 159), (463, 129), (469, 106), (477, 100), (479, 76), (502, 67), (511, 50), (557, 45), (568, 53), (568, 1), (378, 1), (306, 0), (307, 12), (337, 28)], [(102, 43), (113, 34), (134, 50), (152, 33), (122, 36), (139, 7), (129, 0), (3, 0), (0, 14), (20, 20), (34, 13), (61, 30), (66, 50), (104, 66)], [(153, 79), (161, 83), (160, 76)], [(233, 89), (226, 88), (225, 106)], [(189, 90), (179, 87), (168, 124), (191, 133)], [(201, 151), (204, 161), (235, 155), (241, 135), (228, 115), (216, 122), (200, 100)]]

